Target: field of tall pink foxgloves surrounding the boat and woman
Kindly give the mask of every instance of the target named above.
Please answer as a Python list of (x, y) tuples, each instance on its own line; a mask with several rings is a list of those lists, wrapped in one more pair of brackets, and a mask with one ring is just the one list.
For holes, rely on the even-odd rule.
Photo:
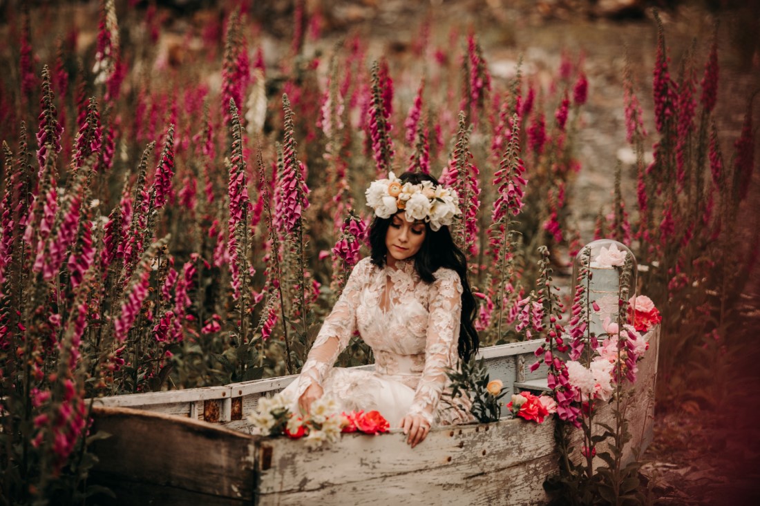
[[(760, 238), (737, 231), (756, 188), (755, 96), (721, 142), (717, 39), (673, 65), (656, 17), (654, 111), (628, 65), (624, 76), (636, 187), (622, 187), (618, 166), (610, 212), (582, 237), (569, 217), (584, 203), (568, 198), (584, 171), (581, 54), (564, 53), (548, 83), (522, 63), (496, 78), (475, 30), (445, 33), (432, 17), (403, 62), (358, 33), (315, 51), (321, 12), (296, 1), (290, 49), (273, 60), (264, 21), (238, 2), (197, 11), (181, 33), (163, 33), (169, 11), (138, 3), (103, 0), (97, 30), (65, 6), (5, 13), (5, 497), (90, 465), (87, 397), (298, 372), (368, 253), (364, 190), (389, 171), (457, 189), (482, 346), (555, 332), (569, 297), (549, 291), (599, 237), (644, 266), (638, 293), (663, 315), (664, 378), (686, 381), (675, 372), (702, 353), (692, 349), (714, 352), (734, 331)], [(339, 361), (372, 356), (357, 339)]]

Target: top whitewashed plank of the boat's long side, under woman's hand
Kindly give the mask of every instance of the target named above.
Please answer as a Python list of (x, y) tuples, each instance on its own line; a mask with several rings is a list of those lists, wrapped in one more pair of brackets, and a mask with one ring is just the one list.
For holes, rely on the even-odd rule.
[(260, 444), (271, 455), (271, 466), (260, 460), (258, 489), (262, 495), (304, 492), (379, 477), (393, 480), (422, 470), (461, 482), (488, 472), (496, 462), (509, 467), (552, 454), (553, 437), (553, 422), (537, 425), (516, 419), (436, 427), (416, 448), (406, 444), (400, 430), (375, 437), (344, 435), (315, 451), (308, 451), (303, 441), (265, 439)]

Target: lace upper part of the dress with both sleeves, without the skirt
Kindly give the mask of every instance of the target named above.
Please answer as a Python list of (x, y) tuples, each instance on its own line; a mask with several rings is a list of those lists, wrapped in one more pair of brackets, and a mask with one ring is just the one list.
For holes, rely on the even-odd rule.
[(409, 414), (433, 423), (448, 383), (446, 369), (457, 364), (462, 294), (454, 270), (434, 275), (433, 283), (425, 283), (412, 260), (382, 268), (369, 258), (359, 261), (303, 365), (298, 394), (312, 382), (322, 384), (358, 330), (375, 354), (375, 372), (411, 387)]

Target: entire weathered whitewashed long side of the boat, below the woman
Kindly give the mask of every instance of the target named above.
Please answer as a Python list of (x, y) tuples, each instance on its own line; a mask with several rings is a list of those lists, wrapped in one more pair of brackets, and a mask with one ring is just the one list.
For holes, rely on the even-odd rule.
[(261, 440), (258, 504), (543, 504), (556, 473), (553, 422), (439, 427), (412, 449), (401, 432), (344, 435), (308, 451)]

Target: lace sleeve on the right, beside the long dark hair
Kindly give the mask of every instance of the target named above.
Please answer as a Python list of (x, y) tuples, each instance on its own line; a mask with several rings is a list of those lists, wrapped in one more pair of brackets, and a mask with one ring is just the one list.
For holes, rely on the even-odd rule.
[(414, 394), (410, 415), (423, 416), (431, 425), (446, 384), (446, 370), (457, 354), (461, 318), (462, 283), (450, 269), (435, 273), (430, 289), (425, 368)]

